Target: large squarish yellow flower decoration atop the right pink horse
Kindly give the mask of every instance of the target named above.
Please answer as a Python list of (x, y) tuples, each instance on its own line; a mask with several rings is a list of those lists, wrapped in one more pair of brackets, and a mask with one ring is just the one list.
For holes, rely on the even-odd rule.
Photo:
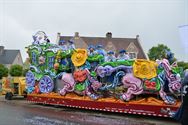
[(138, 78), (151, 79), (157, 76), (157, 63), (144, 59), (137, 59), (133, 64), (134, 76)]

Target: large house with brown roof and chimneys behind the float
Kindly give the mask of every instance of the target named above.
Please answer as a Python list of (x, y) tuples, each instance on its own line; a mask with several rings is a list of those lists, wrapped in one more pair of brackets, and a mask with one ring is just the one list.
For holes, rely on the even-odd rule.
[(103, 45), (106, 51), (113, 50), (116, 55), (122, 49), (125, 49), (131, 59), (147, 59), (140, 44), (139, 35), (135, 38), (113, 38), (112, 33), (106, 33), (106, 37), (84, 37), (76, 32), (74, 36), (61, 36), (57, 33), (57, 44), (60, 41), (74, 41), (76, 48), (88, 48), (89, 45)]

